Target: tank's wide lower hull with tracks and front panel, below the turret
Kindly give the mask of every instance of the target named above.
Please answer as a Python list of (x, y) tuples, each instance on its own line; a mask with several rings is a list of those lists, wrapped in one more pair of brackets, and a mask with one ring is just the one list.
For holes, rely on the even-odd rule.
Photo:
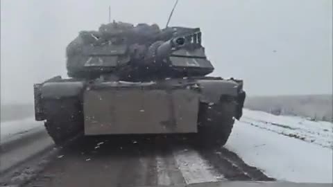
[(45, 122), (58, 145), (76, 134), (197, 134), (200, 142), (223, 138), (224, 144), (234, 119), (241, 117), (242, 85), (241, 80), (207, 77), (157, 82), (57, 78), (35, 84), (35, 118)]

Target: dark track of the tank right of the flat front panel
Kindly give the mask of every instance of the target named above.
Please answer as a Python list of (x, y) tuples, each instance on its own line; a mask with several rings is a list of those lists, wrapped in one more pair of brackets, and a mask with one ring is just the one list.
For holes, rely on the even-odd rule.
[(205, 145), (225, 145), (232, 132), (237, 102), (221, 97), (219, 103), (200, 103), (196, 141)]

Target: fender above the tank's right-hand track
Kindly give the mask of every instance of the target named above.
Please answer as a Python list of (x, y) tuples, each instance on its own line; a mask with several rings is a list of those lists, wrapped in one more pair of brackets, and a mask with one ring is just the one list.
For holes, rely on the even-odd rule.
[(200, 102), (217, 103), (221, 96), (237, 98), (239, 84), (233, 80), (198, 80), (200, 85)]

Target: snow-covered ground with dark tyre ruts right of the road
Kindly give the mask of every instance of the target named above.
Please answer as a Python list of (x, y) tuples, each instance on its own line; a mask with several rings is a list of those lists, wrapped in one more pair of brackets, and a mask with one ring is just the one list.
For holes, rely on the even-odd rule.
[(275, 179), (332, 183), (332, 127), (245, 109), (225, 148)]

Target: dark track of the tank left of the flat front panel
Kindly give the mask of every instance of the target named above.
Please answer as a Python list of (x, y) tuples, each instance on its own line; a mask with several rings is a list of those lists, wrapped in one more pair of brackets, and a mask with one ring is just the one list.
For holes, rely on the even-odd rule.
[(46, 131), (56, 145), (63, 145), (67, 140), (83, 132), (83, 112), (80, 102), (75, 98), (47, 100)]

